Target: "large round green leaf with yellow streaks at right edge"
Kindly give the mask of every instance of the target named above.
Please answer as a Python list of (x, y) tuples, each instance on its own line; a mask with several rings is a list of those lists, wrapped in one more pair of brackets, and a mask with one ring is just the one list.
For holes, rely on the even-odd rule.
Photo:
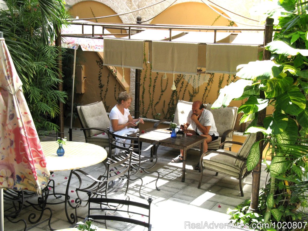
[(290, 115), (298, 115), (306, 107), (305, 95), (294, 85), (276, 99), (281, 109)]

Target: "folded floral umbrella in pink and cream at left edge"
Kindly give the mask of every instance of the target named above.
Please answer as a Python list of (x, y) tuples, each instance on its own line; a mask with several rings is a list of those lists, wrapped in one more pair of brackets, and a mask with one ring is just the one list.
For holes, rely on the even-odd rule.
[[(0, 32), (0, 188), (41, 194), (50, 172), (10, 53)], [(3, 208), (3, 207), (2, 207)]]

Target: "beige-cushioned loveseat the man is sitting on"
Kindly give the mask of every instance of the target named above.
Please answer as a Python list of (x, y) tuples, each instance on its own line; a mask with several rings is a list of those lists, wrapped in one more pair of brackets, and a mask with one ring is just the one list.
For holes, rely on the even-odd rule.
[[(183, 100), (179, 100), (176, 105), (176, 111), (174, 113), (173, 123), (177, 125), (186, 123), (187, 115), (190, 110), (192, 110), (192, 102), (187, 102)], [(221, 143), (225, 141), (231, 141), (233, 137), (233, 132), (236, 131), (234, 129), (236, 118), (237, 118), (237, 107), (220, 107), (218, 109), (212, 109), (212, 104), (204, 104), (207, 110), (211, 111), (214, 117), (215, 125), (217, 128), (217, 132), (219, 134), (219, 138), (214, 140), (213, 142), (208, 144), (208, 149), (218, 149)], [(154, 128), (168, 120), (160, 120), (154, 124)], [(189, 125), (188, 129), (193, 129), (191, 125)], [(231, 151), (232, 144), (226, 143), (224, 148), (229, 148)]]

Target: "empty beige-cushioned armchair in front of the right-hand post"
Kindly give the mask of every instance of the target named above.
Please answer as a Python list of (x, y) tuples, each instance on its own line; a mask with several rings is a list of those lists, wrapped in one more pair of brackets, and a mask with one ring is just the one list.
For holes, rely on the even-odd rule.
[(232, 142), (233, 144), (242, 145), (238, 152), (231, 152), (221, 148), (205, 152), (200, 158), (201, 174), (198, 188), (201, 186), (203, 169), (209, 169), (215, 171), (216, 176), (219, 172), (226, 176), (238, 179), (241, 196), (244, 197), (242, 180), (251, 172), (247, 171), (246, 161), (250, 148), (255, 141), (256, 133), (251, 133), (246, 137), (244, 143), (236, 141), (225, 141), (225, 143)]

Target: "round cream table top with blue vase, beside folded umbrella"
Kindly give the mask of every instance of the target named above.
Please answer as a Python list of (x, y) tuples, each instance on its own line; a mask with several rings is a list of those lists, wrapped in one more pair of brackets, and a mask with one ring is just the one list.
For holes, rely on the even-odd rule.
[(66, 144), (63, 144), (64, 156), (57, 155), (59, 144), (56, 141), (41, 142), (41, 146), (47, 169), (51, 172), (84, 168), (107, 158), (106, 150), (95, 144), (66, 141)]

